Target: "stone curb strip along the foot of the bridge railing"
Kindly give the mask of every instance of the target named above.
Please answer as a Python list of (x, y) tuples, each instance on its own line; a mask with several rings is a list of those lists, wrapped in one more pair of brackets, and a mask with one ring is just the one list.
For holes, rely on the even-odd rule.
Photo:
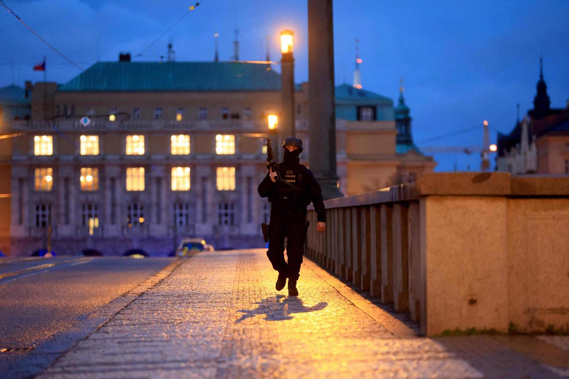
[(364, 311), (368, 316), (376, 320), (395, 336), (399, 338), (418, 338), (413, 329), (406, 326), (404, 323), (386, 311), (378, 308), (376, 305), (374, 305), (374, 303), (362, 297), (356, 291), (345, 285), (341, 280), (332, 276), (332, 274), (321, 268), (318, 264), (306, 256), (304, 257), (304, 265), (307, 265), (308, 268), (310, 268), (316, 275), (322, 278), (322, 280), (332, 286), (349, 302)]

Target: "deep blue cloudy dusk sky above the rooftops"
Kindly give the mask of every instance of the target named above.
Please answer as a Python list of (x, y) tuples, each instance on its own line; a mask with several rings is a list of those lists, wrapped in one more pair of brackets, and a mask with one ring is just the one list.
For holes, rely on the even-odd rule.
[[(220, 59), (233, 55), (239, 30), (240, 59), (263, 60), (270, 36), (280, 59), (279, 31), (295, 31), (295, 81), (308, 80), (306, 0), (204, 0), (162, 39), (137, 57), (195, 2), (169, 0), (5, 0), (39, 35), (84, 69), (115, 61), (130, 51), (134, 61), (156, 61), (172, 39), (176, 60), (213, 60), (218, 33)], [(460, 3), (460, 5), (459, 5)], [(490, 141), (509, 132), (516, 103), (523, 116), (533, 107), (539, 56), (552, 107), (569, 99), (569, 1), (379, 1), (335, 0), (336, 85), (351, 83), (354, 39), (360, 39), (362, 86), (397, 103), (399, 77), (413, 117), (413, 137), (422, 145), (481, 145), (482, 122)], [(42, 81), (32, 71), (47, 56), (49, 81), (67, 82), (80, 70), (65, 62), (0, 7), (0, 87)], [(480, 130), (423, 140), (480, 125)], [(436, 171), (480, 167), (480, 156), (435, 155)], [(491, 155), (493, 169), (494, 155)]]

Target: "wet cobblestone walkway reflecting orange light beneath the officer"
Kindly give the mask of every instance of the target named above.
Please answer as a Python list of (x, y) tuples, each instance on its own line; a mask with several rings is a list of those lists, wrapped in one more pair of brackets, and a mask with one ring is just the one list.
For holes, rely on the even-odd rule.
[(401, 338), (312, 266), (288, 297), (262, 249), (191, 257), (39, 377), (563, 377), (490, 336)]

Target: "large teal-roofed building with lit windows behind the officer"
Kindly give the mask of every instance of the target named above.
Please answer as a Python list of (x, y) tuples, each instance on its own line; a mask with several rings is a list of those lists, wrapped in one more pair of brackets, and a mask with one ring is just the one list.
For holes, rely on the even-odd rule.
[[(280, 86), (266, 64), (128, 60), (96, 63), (63, 85), (36, 83), (34, 117), (14, 126), (26, 135), (14, 141), (13, 252), (50, 239), (56, 253), (167, 255), (187, 236), (217, 249), (261, 247), (270, 205), (257, 185)], [(296, 86), (296, 130), (310, 149), (307, 86)], [(395, 184), (399, 166), (432, 171), (432, 159), (397, 153), (393, 101), (342, 86), (336, 95), (344, 91), (343, 193)]]

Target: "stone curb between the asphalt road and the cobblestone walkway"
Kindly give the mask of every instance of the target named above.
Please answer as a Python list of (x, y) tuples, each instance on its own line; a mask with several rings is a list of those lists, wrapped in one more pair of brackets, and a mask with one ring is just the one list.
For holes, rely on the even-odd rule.
[(32, 349), (22, 360), (17, 362), (17, 367), (14, 367), (15, 371), (22, 374), (22, 377), (25, 378), (34, 377), (43, 372), (43, 370), (55, 364), (65, 352), (106, 324), (124, 307), (170, 276), (186, 260), (187, 258), (176, 259), (130, 291), (101, 306), (84, 320), (73, 324), (73, 326), (56, 335), (53, 339)]

